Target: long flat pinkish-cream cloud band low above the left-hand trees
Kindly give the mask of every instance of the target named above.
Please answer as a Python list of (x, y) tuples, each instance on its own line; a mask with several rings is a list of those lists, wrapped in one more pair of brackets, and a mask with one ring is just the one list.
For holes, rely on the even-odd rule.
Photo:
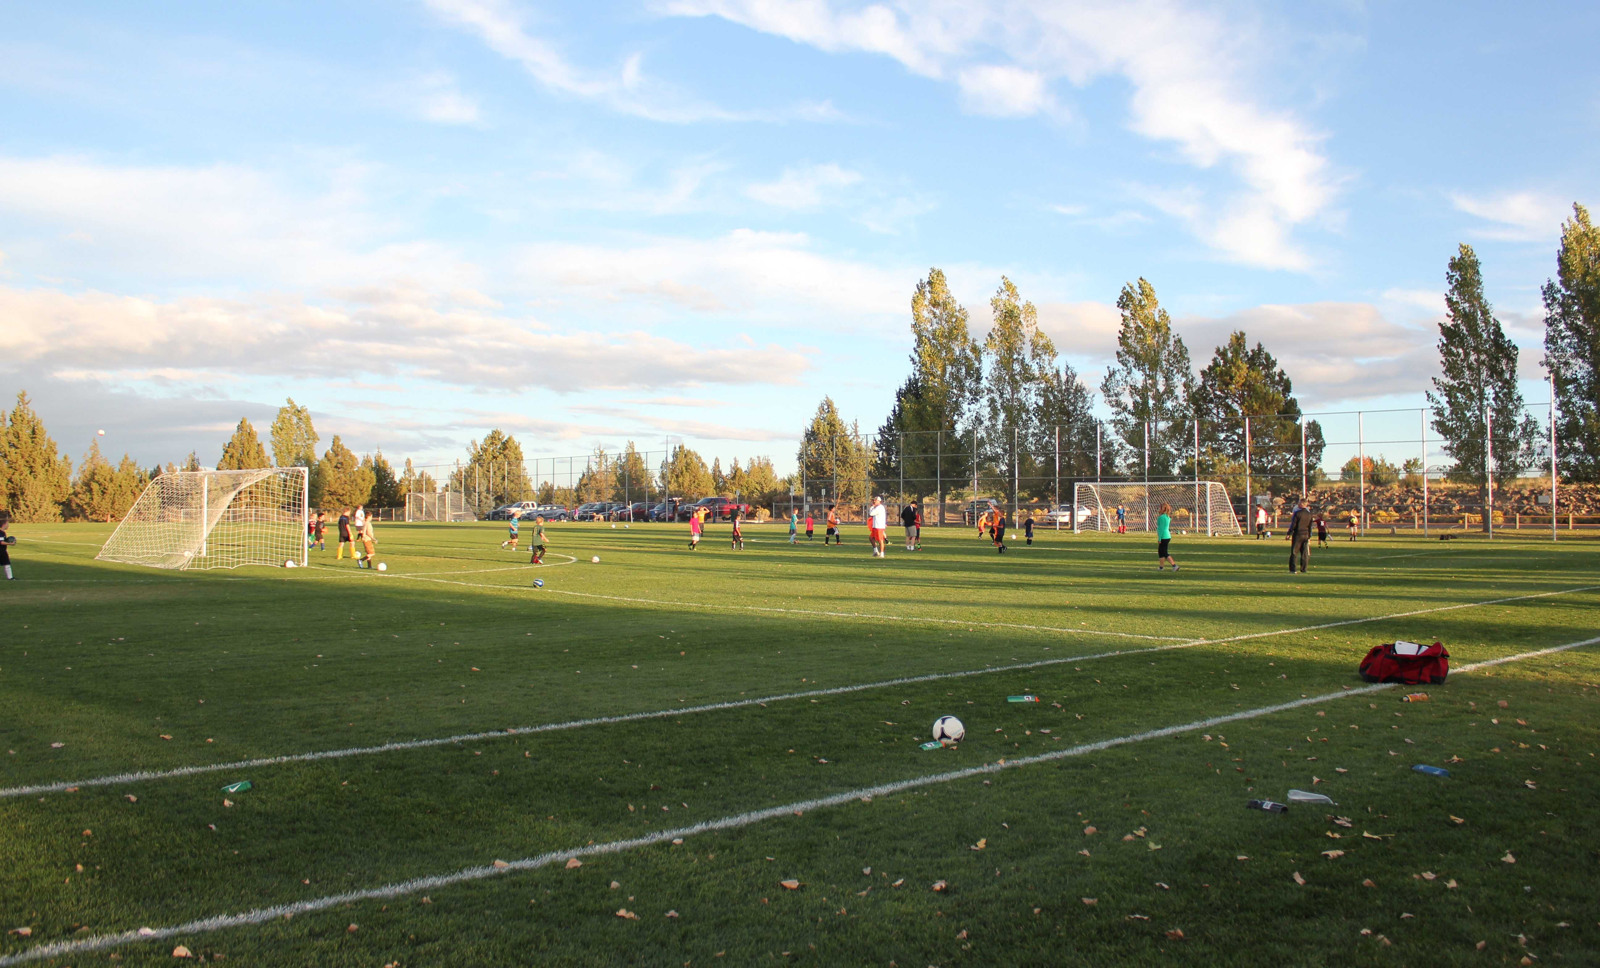
[(74, 379), (226, 386), (245, 378), (378, 374), (493, 392), (794, 382), (797, 350), (690, 346), (643, 331), (552, 331), (406, 286), (338, 304), (262, 296), (154, 302), (0, 286), (0, 358)]

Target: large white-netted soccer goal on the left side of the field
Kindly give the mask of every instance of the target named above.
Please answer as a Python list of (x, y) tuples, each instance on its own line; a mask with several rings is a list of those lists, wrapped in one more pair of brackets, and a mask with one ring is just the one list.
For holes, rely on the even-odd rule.
[(94, 557), (179, 570), (304, 566), (307, 488), (306, 467), (162, 474)]

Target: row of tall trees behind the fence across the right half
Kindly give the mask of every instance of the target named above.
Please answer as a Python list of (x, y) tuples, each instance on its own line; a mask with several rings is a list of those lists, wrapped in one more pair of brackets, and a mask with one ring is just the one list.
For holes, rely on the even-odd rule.
[[(1549, 448), (1526, 411), (1517, 344), (1483, 294), (1470, 245), (1450, 258), (1445, 283), (1442, 373), (1426, 392), (1430, 426), (1453, 459), (1446, 477), (1486, 490), (1491, 478), (1514, 480), (1549, 459)], [(1557, 277), (1542, 294), (1562, 472), (1600, 480), (1600, 232), (1582, 205), (1562, 226)], [(974, 477), (981, 490), (1022, 482), (1019, 499), (1042, 499), (1059, 450), (1064, 478), (1202, 477), (1229, 486), (1243, 480), (1248, 454), (1250, 474), (1293, 482), (1293, 491), (1304, 451), (1309, 483), (1318, 483), (1323, 429), (1304, 419), (1277, 358), (1240, 330), (1195, 370), (1149, 280), (1126, 283), (1117, 298), (1115, 362), (1098, 386), (1106, 421), (1094, 418), (1088, 382), (1059, 358), (1010, 278), (1000, 278), (989, 309), (990, 328), (978, 339), (944, 272), (931, 269), (912, 293), (910, 373), (888, 418), (866, 437), (824, 398), (797, 454), (806, 482), (837, 482), (834, 496), (845, 502), (864, 501), (874, 480), (877, 490), (904, 480), (920, 498), (934, 482), (965, 493), (962, 482)], [(1350, 458), (1339, 474), (1370, 486), (1416, 486), (1427, 469), (1418, 458), (1397, 467), (1378, 454)]]

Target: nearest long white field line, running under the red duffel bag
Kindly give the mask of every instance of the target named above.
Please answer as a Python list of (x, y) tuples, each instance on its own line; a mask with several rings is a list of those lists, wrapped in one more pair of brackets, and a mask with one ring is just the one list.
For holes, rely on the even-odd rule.
[[(1515, 656), (1504, 656), (1501, 659), (1488, 659), (1483, 662), (1472, 662), (1470, 666), (1462, 666), (1456, 672), (1472, 672), (1475, 669), (1483, 669), (1486, 666), (1501, 666), (1504, 662), (1515, 662), (1518, 659), (1531, 659), (1536, 656), (1547, 656), (1552, 653), (1562, 653), (1570, 648), (1579, 648), (1584, 645), (1600, 643), (1597, 638), (1584, 638), (1582, 642), (1570, 642), (1566, 645), (1557, 645), (1552, 648), (1541, 648), (1530, 653), (1518, 653)], [(918, 787), (928, 787), (934, 784), (954, 782), (957, 779), (971, 779), (974, 776), (986, 776), (990, 773), (1000, 773), (1002, 770), (1018, 770), (1021, 766), (1034, 766), (1038, 763), (1050, 763), (1053, 760), (1066, 760), (1067, 757), (1082, 757), (1085, 754), (1102, 752), (1118, 746), (1126, 746), (1130, 742), (1144, 742), (1146, 739), (1163, 739), (1166, 736), (1176, 736), (1179, 733), (1194, 733), (1198, 730), (1210, 730), (1211, 726), (1221, 726), (1224, 723), (1232, 723), (1238, 720), (1256, 718), (1262, 715), (1272, 715), (1275, 712), (1285, 712), (1290, 709), (1299, 709), (1302, 706), (1314, 706), (1317, 702), (1328, 702), (1331, 699), (1341, 699), (1344, 696), (1365, 696), (1370, 693), (1378, 693), (1382, 690), (1392, 690), (1398, 683), (1376, 683), (1370, 686), (1358, 686), (1354, 690), (1341, 690), (1338, 693), (1325, 693), (1322, 696), (1310, 696), (1306, 699), (1294, 699), (1293, 702), (1280, 702), (1277, 706), (1262, 706), (1258, 709), (1246, 709), (1243, 712), (1230, 712), (1227, 715), (1216, 715), (1203, 720), (1195, 720), (1192, 723), (1182, 723), (1178, 726), (1163, 726), (1160, 730), (1149, 730), (1146, 733), (1134, 733), (1131, 736), (1118, 736), (1115, 739), (1101, 739), (1099, 742), (1085, 742), (1069, 749), (1051, 750), (1048, 754), (1040, 754), (1035, 757), (1022, 757), (1018, 760), (1000, 760), (997, 763), (984, 763), (982, 766), (968, 766), (966, 770), (950, 770), (949, 773), (934, 773), (931, 776), (917, 776), (912, 779), (901, 779), (896, 782), (878, 784), (875, 787), (861, 787), (856, 790), (848, 790), (843, 794), (834, 794), (830, 797), (816, 797), (813, 800), (800, 800), (795, 803), (784, 803), (782, 806), (768, 806), (763, 810), (752, 810), (750, 813), (741, 813), (736, 816), (726, 816), (715, 821), (704, 821), (688, 827), (677, 827), (672, 830), (661, 830), (658, 834), (646, 834), (643, 837), (632, 837), (629, 840), (610, 840), (606, 843), (592, 843), (589, 846), (578, 846), (560, 851), (549, 851), (533, 858), (523, 858), (520, 861), (496, 861), (494, 864), (467, 867), (456, 870), (453, 874), (434, 874), (429, 877), (416, 877), (411, 880), (403, 880), (398, 883), (389, 883), (379, 888), (368, 888), (363, 891), (346, 891), (342, 894), (330, 894), (325, 898), (315, 898), (312, 901), (294, 901), (291, 904), (275, 904), (272, 907), (256, 907), (242, 914), (224, 914), (213, 915), (208, 918), (197, 918), (186, 922), (182, 925), (173, 925), (171, 928), (139, 928), (136, 931), (120, 931), (117, 934), (99, 934), (94, 938), (83, 938), (82, 941), (56, 941), (51, 944), (42, 944), (38, 947), (29, 949), (26, 952), (18, 952), (14, 955), (0, 957), (0, 968), (6, 965), (21, 965), (22, 962), (37, 962), (40, 958), (59, 958), (62, 955), (72, 955), (88, 950), (104, 950), (107, 947), (117, 947), (122, 944), (130, 944), (134, 941), (160, 941), (165, 938), (181, 938), (187, 934), (203, 934), (208, 931), (221, 931), (224, 928), (238, 928), (245, 925), (259, 925), (264, 922), (272, 922), (278, 918), (288, 918), (296, 914), (309, 914), (314, 910), (326, 910), (330, 907), (338, 907), (341, 904), (354, 904), (355, 901), (381, 901), (402, 898), (405, 894), (416, 894), (419, 891), (432, 891), (437, 888), (446, 888), (458, 883), (486, 880), (491, 877), (499, 877), (504, 874), (514, 874), (518, 870), (538, 870), (549, 864), (566, 861), (571, 858), (595, 858), (603, 854), (616, 854), (629, 850), (637, 850), (642, 846), (651, 846), (656, 843), (667, 843), (677, 838), (688, 838), (699, 834), (710, 834), (712, 830), (733, 830), (738, 827), (749, 827), (762, 821), (778, 819), (782, 816), (798, 816), (808, 810), (822, 810), (827, 806), (843, 806), (851, 800), (861, 800), (870, 803), (874, 797), (888, 797), (899, 794), (902, 790), (912, 790)]]

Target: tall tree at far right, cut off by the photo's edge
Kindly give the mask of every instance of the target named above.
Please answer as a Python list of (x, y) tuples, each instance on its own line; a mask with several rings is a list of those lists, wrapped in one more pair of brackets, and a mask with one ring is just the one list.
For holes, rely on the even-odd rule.
[(1600, 229), (1573, 205), (1555, 278), (1544, 283), (1544, 365), (1555, 389), (1560, 467), (1600, 480)]

